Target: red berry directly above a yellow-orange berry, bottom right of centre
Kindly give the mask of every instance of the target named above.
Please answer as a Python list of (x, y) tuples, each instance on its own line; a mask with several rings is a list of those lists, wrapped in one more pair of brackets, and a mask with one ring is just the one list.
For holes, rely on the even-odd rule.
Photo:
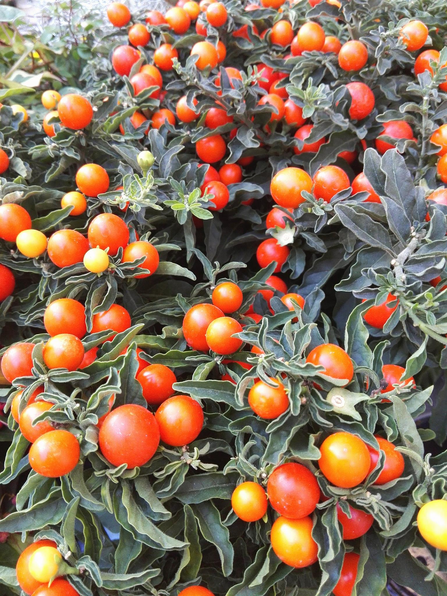
[(274, 510), (289, 519), (309, 516), (320, 498), (315, 474), (305, 465), (294, 462), (279, 465), (272, 471), (267, 494)]

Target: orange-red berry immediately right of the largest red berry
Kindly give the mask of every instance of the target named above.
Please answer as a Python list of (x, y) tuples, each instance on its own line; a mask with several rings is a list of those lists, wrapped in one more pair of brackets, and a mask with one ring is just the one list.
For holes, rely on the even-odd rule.
[(203, 427), (203, 409), (189, 395), (174, 395), (156, 411), (160, 440), (173, 447), (188, 445), (197, 439)]

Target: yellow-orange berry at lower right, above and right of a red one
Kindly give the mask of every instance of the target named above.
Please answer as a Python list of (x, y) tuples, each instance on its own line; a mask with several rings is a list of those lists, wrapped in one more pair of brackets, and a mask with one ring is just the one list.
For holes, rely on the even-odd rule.
[(352, 488), (368, 476), (371, 465), (370, 452), (367, 445), (355, 434), (330, 434), (322, 442), (319, 450), (319, 468), (334, 486)]

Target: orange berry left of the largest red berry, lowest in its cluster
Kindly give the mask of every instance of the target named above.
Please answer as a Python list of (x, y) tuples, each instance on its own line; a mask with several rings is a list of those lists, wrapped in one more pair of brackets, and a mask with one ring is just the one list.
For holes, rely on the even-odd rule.
[(79, 456), (79, 443), (68, 430), (50, 430), (42, 434), (29, 450), (31, 467), (47, 478), (58, 478), (71, 472), (79, 462)]

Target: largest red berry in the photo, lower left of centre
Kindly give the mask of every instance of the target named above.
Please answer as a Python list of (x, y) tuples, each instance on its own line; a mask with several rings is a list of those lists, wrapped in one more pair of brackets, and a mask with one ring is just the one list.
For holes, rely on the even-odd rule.
[(129, 470), (146, 464), (159, 443), (154, 415), (135, 403), (113, 409), (100, 429), (99, 446), (105, 459), (115, 466), (127, 464)]

